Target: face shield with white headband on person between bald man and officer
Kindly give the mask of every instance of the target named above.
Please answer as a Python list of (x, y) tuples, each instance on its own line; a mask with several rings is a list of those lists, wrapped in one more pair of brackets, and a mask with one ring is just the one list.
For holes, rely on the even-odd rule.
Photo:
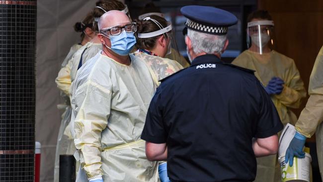
[(155, 37), (155, 36), (162, 34), (168, 43), (166, 55), (170, 54), (171, 50), (177, 51), (177, 45), (176, 45), (176, 41), (174, 39), (174, 33), (172, 31), (172, 26), (169, 21), (167, 21), (166, 27), (162, 27), (162, 25), (158, 21), (156, 21), (155, 19), (152, 19), (150, 17), (146, 17), (143, 20), (153, 21), (154, 23), (156, 23), (160, 27), (160, 30), (157, 30), (154, 32), (149, 32), (149, 33), (138, 33), (139, 38), (150, 38), (150, 37)]

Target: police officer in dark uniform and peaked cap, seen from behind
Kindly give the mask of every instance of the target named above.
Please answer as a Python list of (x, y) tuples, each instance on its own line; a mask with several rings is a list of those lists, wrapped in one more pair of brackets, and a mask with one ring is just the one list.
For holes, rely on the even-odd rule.
[[(192, 64), (162, 80), (141, 138), (149, 160), (167, 160), (172, 182), (251, 182), (255, 157), (278, 149), (283, 125), (253, 71), (221, 61), (232, 13), (181, 8)], [(184, 94), (185, 93), (185, 94)]]

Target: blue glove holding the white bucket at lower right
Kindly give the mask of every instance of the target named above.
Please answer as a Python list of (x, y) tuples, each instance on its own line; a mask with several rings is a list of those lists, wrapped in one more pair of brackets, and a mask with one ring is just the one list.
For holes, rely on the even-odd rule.
[(287, 164), (289, 161), (290, 167), (293, 166), (294, 156), (296, 156), (297, 158), (305, 158), (305, 152), (303, 152), (305, 142), (306, 136), (302, 135), (297, 131), (291, 143), (289, 144), (285, 154), (285, 162)]

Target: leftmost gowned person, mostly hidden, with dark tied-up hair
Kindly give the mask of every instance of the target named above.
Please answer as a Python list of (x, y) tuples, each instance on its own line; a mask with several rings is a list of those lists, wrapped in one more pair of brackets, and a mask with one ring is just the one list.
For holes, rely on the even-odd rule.
[[(74, 25), (74, 29), (76, 32), (81, 32), (81, 42), (78, 44), (74, 44), (66, 58), (62, 63), (62, 69), (59, 73), (59, 76), (69, 77), (69, 72), (67, 72), (64, 68), (67, 66), (68, 61), (72, 58), (75, 52), (79, 50), (84, 44), (90, 41), (94, 37), (94, 31), (92, 31), (94, 17), (91, 12), (87, 13), (85, 18), (81, 22), (77, 22)], [(71, 85), (71, 81), (65, 80), (64, 85)], [(61, 90), (61, 96), (64, 100), (64, 103), (59, 104), (58, 108), (64, 110), (62, 114), (62, 121), (57, 137), (57, 145), (56, 145), (56, 154), (55, 154), (55, 169), (54, 169), (54, 182), (59, 181), (59, 168), (60, 168), (60, 155), (72, 155), (75, 151), (73, 150), (74, 142), (68, 133), (65, 132), (66, 127), (69, 125), (71, 121), (72, 108), (70, 103), (70, 95), (69, 95), (69, 87), (64, 87), (64, 85), (58, 85)]]

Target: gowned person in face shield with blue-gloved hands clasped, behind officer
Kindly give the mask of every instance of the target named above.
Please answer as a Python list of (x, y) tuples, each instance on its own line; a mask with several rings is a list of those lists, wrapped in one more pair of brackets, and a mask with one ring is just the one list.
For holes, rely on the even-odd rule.
[[(257, 10), (247, 18), (249, 48), (232, 64), (255, 70), (254, 75), (264, 86), (276, 106), (284, 125), (295, 124), (296, 115), (291, 108), (299, 108), (306, 97), (304, 83), (294, 60), (272, 49), (274, 22), (268, 11)], [(280, 165), (277, 155), (257, 158), (255, 182), (280, 182)]]

